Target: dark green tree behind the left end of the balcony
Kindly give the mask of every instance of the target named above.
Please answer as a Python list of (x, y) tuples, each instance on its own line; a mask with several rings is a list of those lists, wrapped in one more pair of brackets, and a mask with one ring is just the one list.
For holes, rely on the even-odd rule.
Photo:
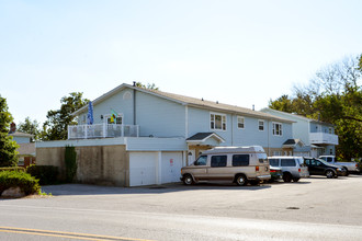
[(77, 119), (71, 115), (75, 111), (88, 104), (83, 93), (72, 92), (60, 100), (60, 110), (48, 111), (47, 120), (43, 124), (42, 140), (65, 140), (68, 138), (68, 125), (77, 125)]

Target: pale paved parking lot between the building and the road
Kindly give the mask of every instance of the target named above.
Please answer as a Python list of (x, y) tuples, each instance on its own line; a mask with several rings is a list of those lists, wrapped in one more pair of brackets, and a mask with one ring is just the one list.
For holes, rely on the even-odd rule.
[(362, 225), (362, 176), (313, 176), (259, 186), (181, 183), (146, 187), (46, 186), (54, 202), (87, 199), (86, 206), (166, 214)]

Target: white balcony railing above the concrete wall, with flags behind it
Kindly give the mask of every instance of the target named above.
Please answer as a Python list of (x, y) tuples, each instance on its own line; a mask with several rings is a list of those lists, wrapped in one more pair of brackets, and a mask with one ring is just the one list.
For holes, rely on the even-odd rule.
[(94, 124), (68, 126), (68, 139), (91, 139), (108, 137), (138, 137), (139, 126), (117, 124)]

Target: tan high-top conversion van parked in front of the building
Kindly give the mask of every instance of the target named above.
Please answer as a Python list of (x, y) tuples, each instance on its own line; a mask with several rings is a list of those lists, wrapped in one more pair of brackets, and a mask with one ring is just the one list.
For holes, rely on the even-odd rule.
[(204, 151), (191, 165), (181, 169), (185, 185), (202, 181), (228, 181), (244, 186), (271, 179), (264, 149), (252, 147), (216, 147)]

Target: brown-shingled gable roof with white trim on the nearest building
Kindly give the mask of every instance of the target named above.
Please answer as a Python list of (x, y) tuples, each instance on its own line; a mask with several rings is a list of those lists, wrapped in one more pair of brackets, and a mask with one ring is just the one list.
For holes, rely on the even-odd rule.
[[(206, 101), (203, 99), (196, 99), (196, 97), (190, 97), (190, 96), (180, 95), (180, 94), (168, 93), (168, 92), (163, 92), (163, 91), (159, 91), (159, 90), (149, 90), (149, 89), (129, 85), (126, 83), (123, 83), (123, 84), (114, 88), (113, 90), (106, 92), (105, 94), (103, 94), (103, 95), (99, 96), (98, 99), (95, 99), (94, 101), (92, 101), (93, 106), (95, 106), (98, 103), (101, 103), (102, 101), (111, 97), (112, 95), (114, 95), (125, 89), (133, 89), (136, 91), (148, 93), (148, 94), (161, 97), (161, 99), (166, 99), (166, 100), (177, 102), (182, 105), (192, 106), (192, 107), (206, 108), (210, 111), (250, 116), (250, 117), (256, 117), (256, 118), (261, 118), (261, 119), (270, 119), (270, 120), (283, 122), (283, 123), (294, 123), (294, 120), (274, 116), (269, 113), (252, 111), (250, 108), (240, 107), (237, 105), (223, 104), (223, 103), (218, 103), (218, 102)], [(78, 115), (78, 114), (87, 112), (87, 111), (88, 111), (88, 105), (84, 105), (83, 107), (73, 112), (72, 115)]]

